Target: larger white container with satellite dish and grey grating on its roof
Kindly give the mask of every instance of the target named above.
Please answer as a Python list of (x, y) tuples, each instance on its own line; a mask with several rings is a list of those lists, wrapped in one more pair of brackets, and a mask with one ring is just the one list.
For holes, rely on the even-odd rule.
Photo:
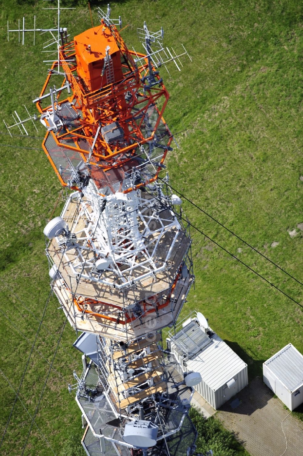
[(189, 318), (169, 336), (168, 348), (183, 371), (200, 373), (202, 381), (194, 388), (214, 409), (247, 386), (247, 364), (198, 318)]

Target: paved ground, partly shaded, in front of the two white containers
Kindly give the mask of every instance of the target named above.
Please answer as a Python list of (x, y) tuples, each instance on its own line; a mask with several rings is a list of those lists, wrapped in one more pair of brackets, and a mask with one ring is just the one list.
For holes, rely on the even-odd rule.
[[(292, 415), (287, 416), (288, 413), (289, 410), (273, 397), (272, 391), (257, 377), (224, 404), (216, 418), (222, 421), (226, 429), (235, 433), (251, 456), (303, 456), (303, 423)], [(285, 417), (283, 430), (288, 444), (286, 451), (281, 426)]]

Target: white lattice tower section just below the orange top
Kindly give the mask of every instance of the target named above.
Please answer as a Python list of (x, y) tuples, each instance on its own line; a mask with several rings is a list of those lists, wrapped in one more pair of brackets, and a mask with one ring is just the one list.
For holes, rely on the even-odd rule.
[[(69, 235), (56, 238), (75, 277), (123, 289), (168, 267), (180, 224), (159, 189), (154, 196), (133, 191), (104, 197), (91, 180), (82, 193), (72, 194), (62, 211), (67, 220), (74, 207)], [(174, 238), (159, 260), (157, 248), (167, 231), (173, 231)]]

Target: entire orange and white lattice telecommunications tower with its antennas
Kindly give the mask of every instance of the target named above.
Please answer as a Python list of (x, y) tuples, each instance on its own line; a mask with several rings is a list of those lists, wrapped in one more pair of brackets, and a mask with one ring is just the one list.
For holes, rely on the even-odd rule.
[[(26, 29), (23, 18), (22, 27), (8, 24), (8, 39), (15, 32), (24, 44), (33, 32), (35, 44), (37, 31), (48, 32), (43, 52), (57, 52), (45, 61), (51, 69), (33, 103), (46, 128), (43, 150), (73, 190), (44, 234), (51, 290), (83, 331), (74, 344), (84, 353), (83, 372), (68, 387), (87, 424), (82, 445), (88, 455), (193, 456), (188, 409), (198, 377), (164, 357), (161, 333), (175, 325), (194, 274), (189, 223), (173, 209), (181, 200), (158, 179), (173, 136), (163, 119), (169, 94), (156, 70), (174, 62), (180, 71), (180, 57), (189, 55), (165, 48), (163, 28), (151, 32), (145, 22), (138, 37), (146, 54), (128, 50), (109, 5), (98, 8), (101, 26), (67, 42), (66, 8), (54, 1), (46, 9), (57, 11), (56, 28), (36, 28), (35, 16)], [(61, 87), (53, 74), (64, 76)], [(24, 124), (38, 116), (26, 112), (21, 120), (15, 111), (9, 132), (28, 134)], [(186, 448), (179, 449), (180, 433)]]

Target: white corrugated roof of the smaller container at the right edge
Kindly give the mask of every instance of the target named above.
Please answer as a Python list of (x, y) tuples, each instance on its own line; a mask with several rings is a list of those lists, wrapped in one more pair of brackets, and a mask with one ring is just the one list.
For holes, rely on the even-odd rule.
[(303, 355), (289, 343), (264, 363), (293, 392), (303, 384)]

